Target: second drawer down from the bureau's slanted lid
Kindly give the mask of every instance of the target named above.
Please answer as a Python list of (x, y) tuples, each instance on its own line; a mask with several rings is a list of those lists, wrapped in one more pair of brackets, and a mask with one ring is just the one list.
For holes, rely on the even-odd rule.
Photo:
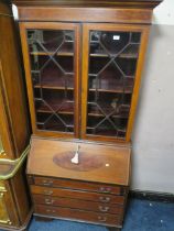
[(124, 204), (123, 196), (113, 196), (113, 195), (105, 195), (105, 194), (88, 193), (80, 190), (62, 189), (62, 188), (48, 188), (48, 187), (34, 186), (34, 185), (31, 186), (31, 193), (36, 195), (74, 198), (80, 200), (91, 200), (91, 201), (99, 201), (106, 204), (119, 204), (119, 205)]

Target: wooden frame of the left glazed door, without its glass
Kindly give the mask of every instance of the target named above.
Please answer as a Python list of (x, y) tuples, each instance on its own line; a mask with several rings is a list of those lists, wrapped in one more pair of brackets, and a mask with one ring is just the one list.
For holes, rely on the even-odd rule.
[[(36, 113), (34, 106), (34, 94), (31, 76), (30, 53), (28, 46), (26, 30), (70, 30), (75, 32), (75, 47), (74, 47), (74, 133), (45, 131), (36, 128)], [(25, 68), (25, 79), (28, 87), (28, 97), (30, 105), (31, 122), (33, 133), (41, 136), (55, 136), (55, 138), (78, 138), (79, 136), (79, 24), (77, 23), (61, 23), (61, 22), (20, 22), (20, 34), (23, 51), (23, 61)]]

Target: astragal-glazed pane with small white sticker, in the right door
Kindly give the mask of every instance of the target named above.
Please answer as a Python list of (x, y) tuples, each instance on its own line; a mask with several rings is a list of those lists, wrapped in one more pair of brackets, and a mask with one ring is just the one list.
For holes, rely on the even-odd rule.
[(87, 134), (124, 139), (141, 33), (89, 34)]

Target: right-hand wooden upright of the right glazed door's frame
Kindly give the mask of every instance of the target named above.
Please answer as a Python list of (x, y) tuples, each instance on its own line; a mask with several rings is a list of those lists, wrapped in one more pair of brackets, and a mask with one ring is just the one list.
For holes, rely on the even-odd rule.
[(140, 84), (141, 84), (141, 75), (142, 75), (142, 69), (143, 69), (143, 64), (144, 64), (144, 58), (145, 58), (145, 53), (146, 53), (149, 33), (150, 33), (150, 26), (142, 29), (141, 46), (140, 46), (139, 59), (138, 59), (138, 64), (137, 64), (138, 68), (137, 68), (137, 74), (135, 74), (135, 79), (134, 79), (132, 102), (131, 102), (128, 129), (127, 129), (127, 134), (126, 134), (127, 142), (129, 142), (131, 139), (131, 132), (132, 132), (132, 128), (133, 128), (135, 109), (137, 109), (137, 105), (138, 105), (139, 90), (140, 90)]

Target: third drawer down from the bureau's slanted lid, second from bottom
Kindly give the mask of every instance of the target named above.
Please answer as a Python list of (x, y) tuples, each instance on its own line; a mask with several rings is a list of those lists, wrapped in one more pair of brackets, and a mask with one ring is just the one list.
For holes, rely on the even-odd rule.
[(94, 202), (88, 200), (33, 195), (33, 201), (36, 205), (59, 206), (72, 209), (81, 209), (81, 210), (90, 210), (90, 211), (116, 213), (116, 215), (123, 213), (123, 206), (120, 205), (112, 206), (109, 204)]

